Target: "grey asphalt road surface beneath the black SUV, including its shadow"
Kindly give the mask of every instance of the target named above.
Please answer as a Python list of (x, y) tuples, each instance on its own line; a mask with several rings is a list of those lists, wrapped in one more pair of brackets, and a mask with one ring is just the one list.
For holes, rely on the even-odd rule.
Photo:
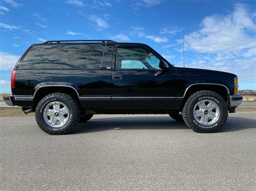
[(200, 134), (167, 115), (98, 115), (50, 136), (33, 117), (3, 117), (0, 189), (255, 190), (255, 118)]

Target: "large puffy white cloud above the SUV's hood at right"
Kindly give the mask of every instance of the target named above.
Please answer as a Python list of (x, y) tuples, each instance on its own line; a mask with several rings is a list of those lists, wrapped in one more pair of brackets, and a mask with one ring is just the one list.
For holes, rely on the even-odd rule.
[(234, 73), (239, 81), (256, 84), (255, 22), (253, 13), (242, 4), (226, 15), (205, 17), (199, 30), (184, 37), (185, 49), (197, 52), (187, 60), (185, 53), (185, 66)]

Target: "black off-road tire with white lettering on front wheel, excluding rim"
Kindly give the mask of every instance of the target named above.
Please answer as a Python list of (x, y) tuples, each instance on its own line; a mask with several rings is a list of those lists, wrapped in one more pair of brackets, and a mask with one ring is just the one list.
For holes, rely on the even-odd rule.
[[(194, 106), (203, 99), (212, 100), (218, 104), (220, 109), (220, 116), (218, 121), (212, 125), (201, 125), (199, 124), (193, 115)], [(198, 91), (192, 94), (186, 101), (183, 107), (183, 119), (187, 126), (189, 126), (193, 131), (198, 133), (213, 133), (217, 132), (226, 123), (228, 117), (228, 107), (227, 103), (219, 94), (213, 91)]]

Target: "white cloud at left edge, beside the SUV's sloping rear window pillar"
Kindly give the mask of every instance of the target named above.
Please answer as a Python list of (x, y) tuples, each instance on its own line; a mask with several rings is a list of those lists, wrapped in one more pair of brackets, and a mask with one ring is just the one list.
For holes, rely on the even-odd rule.
[(20, 56), (7, 52), (0, 52), (0, 70), (12, 70)]

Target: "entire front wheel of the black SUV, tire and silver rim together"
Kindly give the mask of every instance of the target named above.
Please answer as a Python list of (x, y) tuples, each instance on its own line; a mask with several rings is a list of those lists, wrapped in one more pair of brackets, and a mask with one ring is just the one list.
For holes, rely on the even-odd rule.
[(184, 122), (193, 131), (211, 133), (218, 131), (227, 121), (227, 103), (213, 91), (192, 94), (183, 108)]

